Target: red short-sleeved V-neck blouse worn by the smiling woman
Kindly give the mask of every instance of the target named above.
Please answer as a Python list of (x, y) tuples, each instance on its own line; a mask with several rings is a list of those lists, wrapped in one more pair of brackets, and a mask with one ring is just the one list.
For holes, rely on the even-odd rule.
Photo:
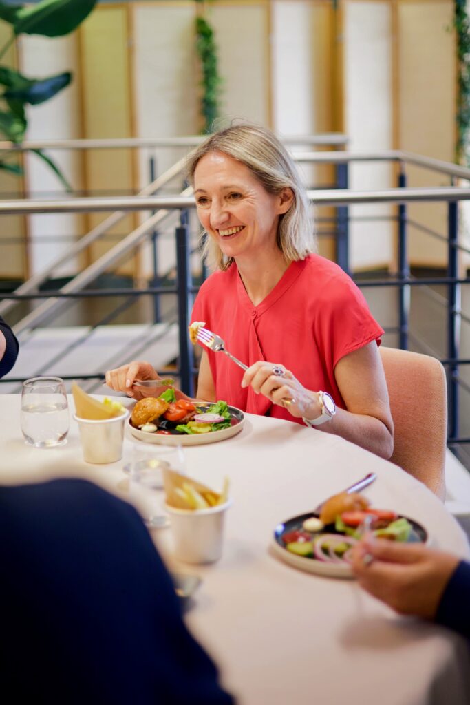
[[(205, 321), (206, 328), (225, 341), (225, 348), (248, 366), (258, 360), (283, 364), (304, 387), (329, 392), (342, 408), (335, 364), (371, 341), (380, 345), (383, 335), (352, 279), (319, 255), (292, 262), (257, 306), (235, 263), (211, 274), (199, 289), (192, 321)], [(227, 355), (204, 350), (217, 399), (252, 414), (302, 423), (251, 386), (242, 388), (244, 372)]]

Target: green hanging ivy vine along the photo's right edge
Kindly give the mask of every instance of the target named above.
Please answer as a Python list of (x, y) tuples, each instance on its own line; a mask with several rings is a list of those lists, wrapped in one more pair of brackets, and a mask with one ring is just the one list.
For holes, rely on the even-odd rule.
[(455, 0), (454, 25), (457, 33), (458, 94), (456, 160), (470, 161), (470, 19), (466, 0)]

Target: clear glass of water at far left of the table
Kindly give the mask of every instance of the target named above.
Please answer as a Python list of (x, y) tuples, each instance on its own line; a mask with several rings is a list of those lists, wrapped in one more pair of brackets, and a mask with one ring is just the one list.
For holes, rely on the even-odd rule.
[(66, 386), (60, 377), (32, 377), (23, 382), (21, 431), (36, 448), (66, 443), (68, 434)]

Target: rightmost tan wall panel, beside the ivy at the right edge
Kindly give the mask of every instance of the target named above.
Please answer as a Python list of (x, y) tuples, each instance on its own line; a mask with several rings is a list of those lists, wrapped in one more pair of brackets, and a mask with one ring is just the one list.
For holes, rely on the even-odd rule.
[[(456, 63), (452, 0), (402, 0), (398, 6), (400, 148), (454, 161)], [(449, 185), (443, 175), (408, 167), (409, 185)], [(446, 233), (445, 204), (412, 204), (409, 217)], [(413, 264), (444, 266), (445, 243), (410, 228)]]

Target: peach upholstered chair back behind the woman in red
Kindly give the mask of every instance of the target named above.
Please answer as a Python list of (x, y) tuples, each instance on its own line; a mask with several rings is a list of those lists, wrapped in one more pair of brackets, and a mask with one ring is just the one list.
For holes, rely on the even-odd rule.
[(445, 498), (447, 384), (430, 355), (379, 348), (390, 396), (395, 443), (390, 458)]

